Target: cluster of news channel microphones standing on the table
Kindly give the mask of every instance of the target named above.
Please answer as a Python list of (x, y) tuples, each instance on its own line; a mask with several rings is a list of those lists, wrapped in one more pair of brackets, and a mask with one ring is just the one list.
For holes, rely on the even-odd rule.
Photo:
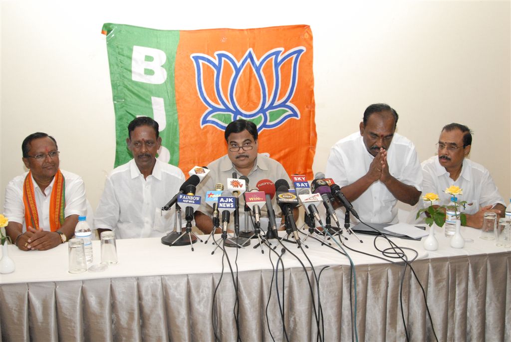
[[(177, 235), (162, 238), (162, 243), (180, 245), (175, 243), (180, 238), (186, 238), (189, 243), (195, 242), (192, 241), (195, 240), (195, 238), (192, 237), (192, 235), (195, 234), (191, 232), (191, 222), (194, 218), (195, 211), (201, 204), (201, 197), (196, 195), (196, 190), (199, 183), (207, 177), (209, 172), (210, 170), (206, 167), (196, 166), (192, 168), (189, 172), (190, 177), (181, 185), (179, 192), (161, 208), (166, 211), (176, 205), (176, 209), (179, 210), (179, 212), (181, 209), (184, 209), (184, 218), (187, 221), (187, 229), (185, 232), (181, 233), (179, 217), (179, 219), (176, 220), (178, 232), (174, 232), (174, 234)], [(332, 218), (339, 229), (340, 222), (332, 205), (334, 201), (337, 201), (340, 206), (345, 207), (348, 213), (347, 215), (351, 213), (357, 219), (359, 218), (350, 201), (344, 197), (340, 187), (334, 183), (332, 178), (325, 178), (324, 174), (318, 172), (310, 185), (305, 175), (292, 175), (291, 180), (293, 188), (289, 186), (286, 179), (278, 179), (275, 183), (270, 179), (261, 179), (254, 187), (251, 187), (249, 186), (249, 179), (246, 176), (238, 177), (236, 172), (233, 172), (233, 177), (227, 178), (225, 186), (224, 184), (217, 183), (215, 189), (207, 191), (204, 196), (204, 202), (213, 209), (213, 214), (211, 216), (213, 231), (211, 236), (220, 230), (222, 239), (224, 241), (228, 239), (228, 225), (231, 216), (234, 216), (234, 239), (238, 239), (240, 235), (243, 236), (243, 233), (248, 233), (248, 235), (250, 235), (244, 235), (246, 238), (258, 237), (260, 239), (260, 244), (261, 238), (266, 240), (278, 238), (278, 226), (272, 206), (272, 199), (274, 197), (282, 211), (288, 236), (292, 236), (298, 244), (300, 243), (300, 238), (296, 227), (296, 219), (293, 216), (293, 209), (300, 206), (300, 204), (305, 209), (310, 226), (314, 225), (314, 221), (324, 226), (318, 211), (318, 206), (320, 206), (321, 203), (326, 210), (327, 220), (330, 221), (330, 218)], [(239, 207), (240, 197), (243, 197), (245, 202), (244, 207), (241, 209)], [(263, 209), (264, 206), (266, 206), (268, 216), (268, 227), (263, 237), (261, 235), (264, 233), (261, 230), (261, 209)], [(240, 210), (245, 212), (245, 230), (251, 225), (253, 231), (240, 232)], [(249, 224), (249, 217), (251, 217), (252, 220), (251, 224)], [(174, 237), (176, 237), (175, 240)], [(240, 247), (242, 245), (243, 243), (240, 244), (236, 240), (233, 246)]]

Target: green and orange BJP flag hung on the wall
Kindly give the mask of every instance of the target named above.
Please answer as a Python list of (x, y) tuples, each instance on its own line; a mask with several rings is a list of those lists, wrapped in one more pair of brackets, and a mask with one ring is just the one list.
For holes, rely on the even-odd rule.
[(158, 159), (188, 172), (224, 155), (226, 126), (258, 127), (259, 153), (312, 179), (316, 150), (309, 26), (164, 31), (104, 24), (115, 110), (115, 167), (128, 124), (152, 117)]

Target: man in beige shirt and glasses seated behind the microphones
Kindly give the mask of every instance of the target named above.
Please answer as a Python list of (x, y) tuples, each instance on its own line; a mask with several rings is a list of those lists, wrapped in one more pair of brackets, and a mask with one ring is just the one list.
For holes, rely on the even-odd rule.
[[(225, 129), (224, 137), (227, 142), (227, 154), (207, 166), (211, 172), (197, 190), (202, 198), (206, 191), (215, 190), (215, 184), (221, 183), (225, 186), (227, 178), (233, 177), (233, 172), (236, 172), (238, 177), (247, 176), (250, 188), (255, 187), (261, 179), (270, 179), (273, 183), (278, 179), (285, 179), (291, 184), (286, 170), (280, 163), (258, 153), (258, 131), (253, 122), (240, 119), (229, 123)], [(243, 195), (239, 198), (241, 214), (245, 201)], [(275, 214), (280, 216), (281, 211), (274, 198), (272, 203)], [(262, 216), (267, 217), (266, 206), (261, 211)], [(212, 213), (213, 209), (204, 202), (195, 212), (195, 223), (206, 234), (213, 230)], [(296, 211), (294, 214), (296, 215)], [(240, 219), (240, 222), (242, 221)]]

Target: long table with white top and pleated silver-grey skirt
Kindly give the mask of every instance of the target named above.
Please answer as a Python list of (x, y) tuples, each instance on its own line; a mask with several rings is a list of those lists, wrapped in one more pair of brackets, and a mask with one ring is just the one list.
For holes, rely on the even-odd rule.
[[(511, 248), (479, 239), (470, 227), (461, 233), (473, 242), (452, 248), (437, 228), (434, 252), (421, 241), (390, 238), (416, 250), (405, 249), (416, 255), (410, 264), (416, 277), (410, 267), (378, 258), (384, 257), (378, 249), (390, 247), (382, 237), (359, 235), (361, 243), (348, 235), (345, 249), (369, 254), (346, 249), (353, 283), (350, 259), (311, 238), (305, 255), (277, 240), (270, 240), (274, 252), (261, 253), (252, 240), (225, 248), (225, 255), (221, 248), (212, 254), (212, 239), (195, 243), (193, 252), (159, 238), (117, 240), (118, 264), (79, 274), (67, 271), (67, 244), (31, 252), (10, 245), (16, 269), (1, 275), (0, 333), (6, 341), (312, 341), (319, 327), (325, 341), (355, 334), (360, 341), (406, 340), (406, 333), (423, 341), (435, 340), (434, 328), (439, 341), (509, 341)], [(93, 263), (99, 243), (93, 241)]]

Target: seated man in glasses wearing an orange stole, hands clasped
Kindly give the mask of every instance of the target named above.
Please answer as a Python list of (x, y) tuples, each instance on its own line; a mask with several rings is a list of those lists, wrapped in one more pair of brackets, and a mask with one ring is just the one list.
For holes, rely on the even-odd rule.
[(6, 233), (21, 250), (45, 250), (75, 235), (87, 200), (80, 176), (59, 169), (53, 136), (33, 133), (21, 143), (29, 172), (15, 177), (5, 190)]

